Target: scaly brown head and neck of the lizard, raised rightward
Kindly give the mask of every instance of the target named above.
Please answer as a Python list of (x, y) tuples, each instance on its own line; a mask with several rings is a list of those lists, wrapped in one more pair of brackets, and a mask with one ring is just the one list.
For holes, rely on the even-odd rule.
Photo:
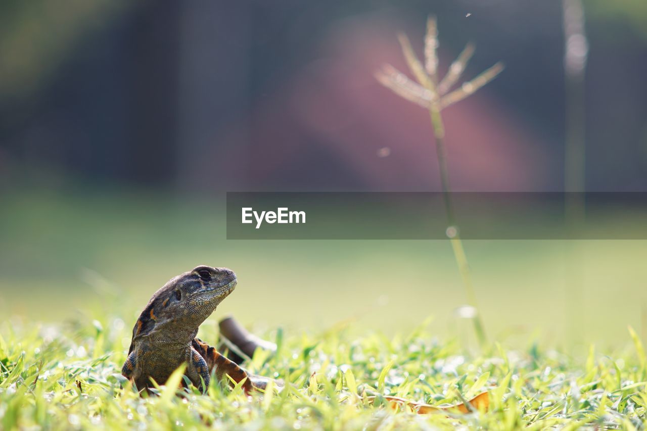
[[(171, 278), (146, 305), (133, 327), (135, 338), (182, 337), (197, 331), (236, 288), (236, 274), (206, 265)], [(132, 346), (131, 346), (132, 349)]]

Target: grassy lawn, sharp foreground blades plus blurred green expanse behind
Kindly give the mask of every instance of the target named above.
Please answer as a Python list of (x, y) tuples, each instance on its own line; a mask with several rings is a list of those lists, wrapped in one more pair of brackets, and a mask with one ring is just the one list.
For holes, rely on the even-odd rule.
[[(466, 241), (489, 340), (479, 349), (456, 313), (465, 294), (446, 241), (227, 241), (214, 202), (3, 197), (0, 428), (642, 427), (647, 241)], [(234, 269), (239, 286), (200, 336), (215, 340), (233, 313), (280, 344), (248, 367), (296, 389), (122, 389), (138, 312), (201, 263)], [(492, 408), (394, 413), (356, 397), (376, 385), (432, 404), (487, 389)]]

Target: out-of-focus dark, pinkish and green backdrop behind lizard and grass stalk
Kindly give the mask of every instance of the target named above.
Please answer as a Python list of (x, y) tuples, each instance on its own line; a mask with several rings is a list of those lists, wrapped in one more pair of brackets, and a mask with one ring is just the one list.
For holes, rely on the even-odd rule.
[[(584, 186), (647, 192), (647, 3), (583, 4)], [(564, 190), (561, 1), (1, 3), (1, 316), (134, 322), (206, 263), (239, 275), (216, 313), (245, 324), (392, 332), (432, 315), (441, 337), (468, 331), (445, 241), (225, 238), (227, 191), (439, 190), (428, 113), (373, 77), (406, 70), (396, 34), (421, 52), (428, 14), (441, 72), (468, 41), (466, 78), (506, 66), (443, 113), (454, 189)], [(647, 241), (466, 251), (493, 336), (647, 330)]]

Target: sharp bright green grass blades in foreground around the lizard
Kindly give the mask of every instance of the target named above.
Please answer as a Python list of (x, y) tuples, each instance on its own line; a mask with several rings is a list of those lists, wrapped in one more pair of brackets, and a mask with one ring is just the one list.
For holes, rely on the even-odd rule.
[[(278, 342), (276, 355), (259, 352), (248, 368), (294, 388), (247, 398), (214, 383), (208, 395), (189, 390), (176, 397), (169, 386), (159, 397), (139, 397), (120, 377), (130, 324), (107, 315), (60, 327), (5, 324), (0, 428), (631, 429), (646, 420), (645, 356), (630, 335), (625, 349), (597, 352), (591, 346), (578, 357), (538, 344), (520, 350), (492, 345), (470, 354), (457, 338), (437, 340), (424, 326), (391, 338), (374, 331), (357, 335), (343, 325), (321, 333), (274, 331), (265, 335)], [(201, 336), (214, 340), (214, 325), (204, 325)], [(314, 372), (317, 384), (309, 382)], [(432, 404), (486, 389), (491, 409), (393, 412), (363, 403), (355, 395), (363, 388)]]

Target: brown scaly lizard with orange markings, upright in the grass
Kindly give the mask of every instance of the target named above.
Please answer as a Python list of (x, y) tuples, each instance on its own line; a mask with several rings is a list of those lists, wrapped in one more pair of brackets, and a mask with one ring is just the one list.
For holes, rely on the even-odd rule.
[(236, 283), (234, 271), (206, 265), (171, 278), (139, 315), (122, 375), (138, 390), (148, 390), (151, 379), (164, 384), (186, 363), (185, 375), (202, 392), (212, 375), (243, 382), (246, 393), (265, 388), (267, 379), (248, 373), (196, 337), (198, 327), (234, 291)]

